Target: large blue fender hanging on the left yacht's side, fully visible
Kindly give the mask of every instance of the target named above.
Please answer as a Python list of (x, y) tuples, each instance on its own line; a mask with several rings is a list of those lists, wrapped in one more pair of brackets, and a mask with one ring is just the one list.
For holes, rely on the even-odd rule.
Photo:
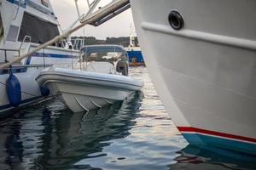
[(6, 92), (9, 104), (15, 107), (19, 106), (21, 103), (20, 81), (13, 73), (9, 74), (9, 78), (6, 81)]

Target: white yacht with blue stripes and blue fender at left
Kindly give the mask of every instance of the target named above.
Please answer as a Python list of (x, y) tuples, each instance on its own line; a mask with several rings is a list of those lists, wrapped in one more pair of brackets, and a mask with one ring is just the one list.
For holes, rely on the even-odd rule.
[[(59, 23), (49, 0), (1, 0), (0, 13), (0, 65), (13, 61), (60, 34)], [(72, 69), (78, 57), (79, 50), (62, 41), (22, 59), (11, 69), (0, 69), (0, 116), (44, 99), (35, 80), (39, 73), (53, 65)], [(14, 79), (16, 88), (10, 87)]]

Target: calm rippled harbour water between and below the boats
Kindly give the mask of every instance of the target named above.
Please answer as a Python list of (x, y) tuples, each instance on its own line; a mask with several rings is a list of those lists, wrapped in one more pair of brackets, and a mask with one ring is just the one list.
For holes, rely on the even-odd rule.
[(0, 122), (0, 169), (256, 169), (256, 158), (183, 139), (145, 68), (142, 92), (124, 103), (73, 114), (58, 99)]

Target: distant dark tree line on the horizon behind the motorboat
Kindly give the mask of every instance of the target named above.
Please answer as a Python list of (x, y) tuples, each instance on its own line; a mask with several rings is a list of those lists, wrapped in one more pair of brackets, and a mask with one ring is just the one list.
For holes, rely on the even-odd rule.
[[(72, 42), (78, 38), (84, 41), (84, 45), (115, 44), (123, 47), (130, 45), (130, 37), (107, 37), (105, 40), (98, 40), (96, 37), (71, 37)], [(137, 37), (135, 37), (135, 45), (138, 45)]]

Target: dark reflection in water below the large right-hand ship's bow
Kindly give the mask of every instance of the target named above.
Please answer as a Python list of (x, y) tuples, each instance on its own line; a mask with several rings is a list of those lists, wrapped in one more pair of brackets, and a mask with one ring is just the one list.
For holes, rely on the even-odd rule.
[(256, 157), (233, 150), (189, 144), (177, 154), (180, 155), (175, 158), (177, 163), (168, 166), (172, 170), (256, 169)]

